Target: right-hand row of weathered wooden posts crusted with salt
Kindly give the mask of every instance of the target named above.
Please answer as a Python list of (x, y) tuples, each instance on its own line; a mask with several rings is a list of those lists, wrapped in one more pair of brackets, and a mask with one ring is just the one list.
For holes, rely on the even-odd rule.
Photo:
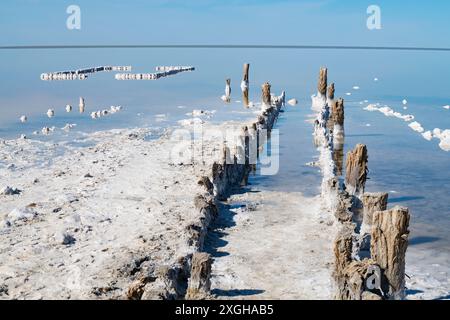
[[(344, 100), (334, 100), (335, 86), (327, 90), (327, 69), (319, 74), (318, 91), (331, 101), (329, 125), (336, 175), (342, 174)], [(336, 127), (342, 133), (336, 135)], [(333, 132), (334, 131), (334, 132)], [(409, 210), (387, 209), (387, 193), (365, 192), (368, 150), (358, 144), (347, 153), (345, 183), (336, 183), (335, 215), (340, 231), (334, 243), (336, 298), (341, 300), (404, 299), (405, 255)]]

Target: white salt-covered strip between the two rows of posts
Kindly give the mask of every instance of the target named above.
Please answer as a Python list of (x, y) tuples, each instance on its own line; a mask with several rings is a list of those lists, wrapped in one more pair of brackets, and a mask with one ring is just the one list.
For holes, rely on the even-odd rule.
[(332, 299), (334, 217), (320, 197), (248, 189), (224, 204), (207, 245), (220, 299)]

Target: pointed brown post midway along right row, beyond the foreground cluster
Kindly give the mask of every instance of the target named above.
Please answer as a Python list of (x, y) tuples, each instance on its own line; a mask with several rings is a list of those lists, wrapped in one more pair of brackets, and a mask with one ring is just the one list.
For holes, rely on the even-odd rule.
[(355, 149), (347, 153), (345, 184), (351, 195), (359, 196), (364, 193), (367, 179), (367, 147), (356, 145)]

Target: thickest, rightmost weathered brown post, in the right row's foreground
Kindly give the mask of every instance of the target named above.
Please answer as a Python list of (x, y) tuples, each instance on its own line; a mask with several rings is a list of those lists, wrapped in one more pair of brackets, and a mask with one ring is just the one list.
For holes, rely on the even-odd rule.
[(387, 299), (405, 298), (405, 255), (409, 234), (408, 208), (396, 206), (373, 214), (370, 252), (383, 269), (381, 287)]

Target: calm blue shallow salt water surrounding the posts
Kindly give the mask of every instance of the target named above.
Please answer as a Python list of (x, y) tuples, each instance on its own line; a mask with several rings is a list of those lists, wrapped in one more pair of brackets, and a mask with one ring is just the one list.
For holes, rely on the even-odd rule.
[[(367, 191), (389, 191), (390, 206), (411, 210), (411, 248), (415, 257), (440, 272), (450, 266), (450, 152), (438, 141), (426, 141), (408, 123), (363, 108), (369, 103), (386, 104), (395, 111), (412, 114), (425, 130), (450, 128), (448, 94), (450, 65), (447, 53), (288, 51), (288, 50), (30, 50), (0, 53), (3, 71), (0, 86), (0, 139), (11, 139), (43, 126), (77, 126), (70, 133), (57, 130), (50, 136), (32, 136), (83, 146), (86, 132), (113, 128), (164, 128), (189, 118), (194, 109), (217, 110), (210, 121), (247, 119), (252, 110), (242, 105), (242, 64), (251, 63), (250, 100), (260, 100), (260, 85), (270, 81), (272, 91), (286, 90), (286, 106), (277, 123), (280, 130), (278, 174), (255, 176), (255, 188), (317, 194), (317, 168), (306, 165), (316, 159), (312, 144), (310, 95), (315, 93), (320, 66), (329, 68), (329, 81), (336, 83), (336, 96), (346, 100), (344, 155), (357, 143), (369, 150)], [(114, 73), (98, 73), (86, 81), (39, 79), (42, 72), (98, 65), (131, 65), (132, 72), (152, 72), (157, 65), (193, 65), (196, 71), (158, 81), (116, 81)], [(232, 103), (224, 103), (225, 79), (232, 79)], [(379, 81), (374, 81), (378, 78)], [(353, 87), (360, 87), (354, 90)], [(351, 95), (346, 95), (351, 93)], [(78, 99), (86, 99), (86, 112), (77, 112)], [(407, 110), (402, 100), (407, 99)], [(368, 100), (368, 102), (364, 102)], [(66, 104), (74, 111), (66, 113)], [(92, 120), (91, 111), (121, 105), (122, 112)], [(46, 111), (55, 109), (49, 119)], [(28, 122), (20, 123), (21, 115)], [(157, 116), (157, 115), (165, 115)], [(76, 140), (79, 139), (79, 140)], [(276, 151), (274, 151), (276, 152)], [(345, 159), (344, 159), (345, 163)], [(314, 186), (314, 187), (312, 187)], [(438, 254), (435, 254), (438, 253)]]

